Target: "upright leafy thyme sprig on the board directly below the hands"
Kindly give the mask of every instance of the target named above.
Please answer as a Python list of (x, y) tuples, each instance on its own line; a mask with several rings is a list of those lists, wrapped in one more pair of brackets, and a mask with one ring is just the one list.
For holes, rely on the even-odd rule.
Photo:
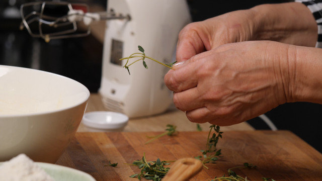
[[(213, 133), (210, 137), (212, 129), (215, 131), (215, 133)], [(223, 132), (220, 131), (219, 126), (211, 125), (208, 133), (206, 150), (200, 150), (202, 152), (202, 155), (198, 155), (195, 157), (196, 159), (199, 159), (202, 162), (202, 165), (207, 169), (208, 167), (205, 165), (205, 163), (215, 163), (215, 161), (221, 155), (221, 149), (217, 149), (216, 146), (219, 138), (222, 138), (222, 133)]]

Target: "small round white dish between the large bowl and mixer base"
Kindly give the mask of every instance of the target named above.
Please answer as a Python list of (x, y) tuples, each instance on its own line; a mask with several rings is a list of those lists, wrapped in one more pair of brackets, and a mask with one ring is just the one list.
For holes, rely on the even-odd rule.
[(109, 111), (88, 112), (83, 116), (83, 123), (88, 127), (96, 129), (123, 129), (128, 121), (129, 118), (125, 114)]

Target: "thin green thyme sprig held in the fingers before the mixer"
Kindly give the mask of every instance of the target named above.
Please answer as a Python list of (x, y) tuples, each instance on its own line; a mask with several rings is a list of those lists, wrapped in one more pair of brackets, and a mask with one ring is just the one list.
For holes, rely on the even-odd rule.
[[(144, 59), (145, 59), (145, 58), (148, 58), (148, 59), (150, 59), (150, 60), (153, 60), (153, 61), (155, 61), (155, 62), (157, 62), (157, 63), (159, 63), (159, 64), (162, 64), (162, 65), (164, 65), (164, 66), (166, 66), (166, 67), (168, 67), (168, 68), (171, 68), (171, 69), (172, 69), (172, 65), (173, 65), (174, 63), (176, 63), (176, 62), (177, 62), (177, 61), (176, 61), (176, 62), (173, 62), (173, 63), (170, 63), (170, 64), (165, 64), (165, 63), (159, 62), (159, 61), (155, 60), (154, 58), (151, 58), (151, 57), (149, 57), (149, 56), (146, 56), (146, 55), (145, 55), (145, 53), (144, 53), (144, 49), (143, 49), (140, 45), (139, 45), (139, 46), (137, 46), (137, 47), (138, 47), (138, 50), (139, 50), (140, 52), (142, 52), (142, 53), (132, 53), (130, 56), (125, 57), (125, 58), (121, 58), (121, 59), (120, 59), (120, 60), (125, 60), (125, 59), (127, 59), (127, 61), (126, 61), (125, 65), (124, 65), (123, 67), (127, 69), (127, 71), (129, 72), (129, 74), (130, 74), (129, 66), (130, 66), (130, 65), (132, 65), (133, 63), (137, 62), (137, 61), (142, 60), (142, 62), (143, 62), (143, 66), (144, 66), (145, 68), (147, 68), (146, 62), (144, 61)], [(128, 64), (128, 63), (129, 63), (129, 59), (130, 59), (130, 58), (138, 58), (138, 59), (137, 59), (137, 60), (134, 60), (132, 63)]]

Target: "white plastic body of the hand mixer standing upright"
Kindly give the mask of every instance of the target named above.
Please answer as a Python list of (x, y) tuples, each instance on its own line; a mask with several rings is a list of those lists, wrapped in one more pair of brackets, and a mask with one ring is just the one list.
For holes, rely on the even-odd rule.
[(175, 61), (175, 50), (180, 30), (190, 22), (185, 0), (109, 0), (113, 9), (130, 21), (107, 21), (105, 32), (102, 80), (99, 89), (103, 103), (111, 111), (129, 117), (162, 113), (172, 103), (172, 92), (164, 84), (169, 68), (146, 59), (129, 67), (131, 75), (118, 60), (139, 52), (141, 45), (147, 56), (161, 62)]

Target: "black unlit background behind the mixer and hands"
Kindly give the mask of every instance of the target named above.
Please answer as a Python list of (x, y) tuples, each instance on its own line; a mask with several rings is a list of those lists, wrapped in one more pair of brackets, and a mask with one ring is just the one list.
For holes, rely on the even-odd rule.
[[(20, 31), (19, 10), (31, 1), (0, 1), (0, 64), (41, 69), (75, 79), (91, 92), (97, 92), (101, 81), (103, 44), (94, 36), (51, 40), (32, 38), (26, 30)], [(69, 1), (106, 7), (106, 1)], [(188, 0), (193, 21), (202, 21), (230, 11), (249, 9), (266, 3), (289, 1), (226, 1)], [(281, 105), (266, 115), (278, 129), (294, 132), (322, 152), (322, 105), (290, 103)], [(259, 118), (248, 121), (256, 129), (269, 129)]]

